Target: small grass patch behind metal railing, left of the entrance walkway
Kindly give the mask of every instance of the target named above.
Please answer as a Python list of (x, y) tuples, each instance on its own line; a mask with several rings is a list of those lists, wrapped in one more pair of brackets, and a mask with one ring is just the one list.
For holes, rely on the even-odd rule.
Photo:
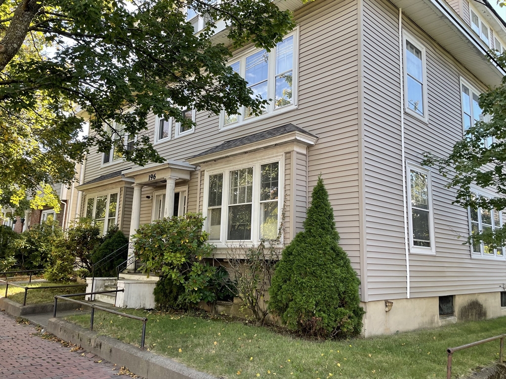
[[(30, 288), (36, 287), (47, 287), (47, 286), (64, 286), (64, 285), (75, 285), (75, 282), (65, 283), (54, 283), (54, 282), (39, 282), (39, 283), (26, 283), (21, 286)], [(82, 287), (69, 287), (69, 288), (55, 288), (53, 289), (42, 289), (42, 290), (28, 290), (26, 295), (26, 304), (41, 304), (41, 303), (53, 303), (55, 295), (67, 295), (67, 294), (80, 294), (86, 292), (86, 286)], [(9, 285), (7, 291), (7, 298), (17, 303), (23, 304), (23, 298), (25, 296), (25, 290), (23, 288), (14, 287)], [(0, 286), (0, 297), (5, 297), (5, 285)], [(72, 299), (84, 300), (84, 296), (74, 297)]]

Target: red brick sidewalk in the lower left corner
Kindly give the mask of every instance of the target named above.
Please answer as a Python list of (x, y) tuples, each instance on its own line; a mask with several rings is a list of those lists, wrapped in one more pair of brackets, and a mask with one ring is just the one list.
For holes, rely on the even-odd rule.
[[(31, 334), (33, 325), (18, 324), (14, 317), (0, 312), (0, 377), (2, 379), (120, 379), (119, 367), (94, 361), (101, 358), (73, 346)], [(81, 354), (85, 353), (85, 356)]]

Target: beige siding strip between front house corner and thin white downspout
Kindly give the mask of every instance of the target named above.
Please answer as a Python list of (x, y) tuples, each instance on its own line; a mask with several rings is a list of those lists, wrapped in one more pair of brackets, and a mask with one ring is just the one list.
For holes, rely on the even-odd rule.
[(395, 12), (386, 2), (364, 2), (363, 191), (369, 301), (403, 298), (407, 288)]

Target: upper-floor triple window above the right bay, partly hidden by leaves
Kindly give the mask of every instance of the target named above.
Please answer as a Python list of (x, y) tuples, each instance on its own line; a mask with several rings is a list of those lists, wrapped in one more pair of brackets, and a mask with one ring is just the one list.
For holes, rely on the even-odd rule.
[[(297, 34), (286, 35), (270, 51), (255, 50), (231, 59), (230, 67), (241, 75), (254, 97), (271, 100), (263, 114), (293, 109), (296, 105), (296, 48)], [(222, 112), (220, 127), (234, 127), (255, 119), (248, 107), (240, 107), (238, 114)]]

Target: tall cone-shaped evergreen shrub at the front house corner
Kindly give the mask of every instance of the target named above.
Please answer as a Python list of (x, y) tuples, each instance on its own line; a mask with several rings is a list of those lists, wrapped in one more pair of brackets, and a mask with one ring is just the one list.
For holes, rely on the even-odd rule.
[(315, 337), (356, 336), (362, 329), (359, 279), (338, 245), (333, 211), (321, 176), (299, 232), (283, 250), (270, 288), (269, 309), (292, 330)]

